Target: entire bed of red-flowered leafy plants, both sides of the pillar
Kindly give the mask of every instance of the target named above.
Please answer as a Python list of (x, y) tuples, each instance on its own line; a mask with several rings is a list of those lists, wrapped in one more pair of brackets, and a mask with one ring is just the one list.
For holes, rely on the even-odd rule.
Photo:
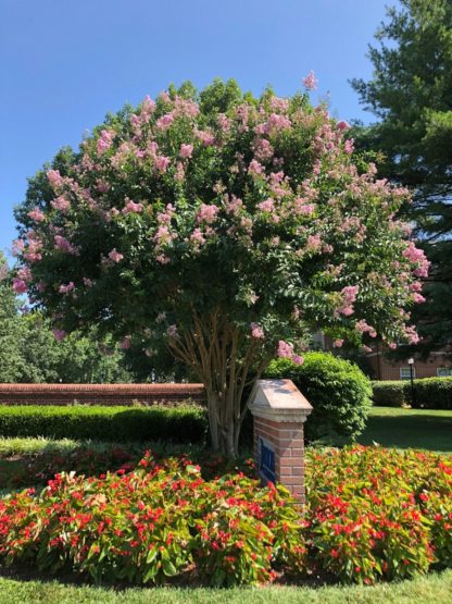
[[(452, 458), (354, 446), (307, 455), (307, 505), (186, 456), (0, 500), (0, 556), (113, 583), (373, 583), (452, 567)], [(204, 470), (204, 468), (203, 468)], [(315, 471), (314, 471), (315, 470)], [(205, 478), (203, 478), (203, 476)], [(208, 480), (206, 477), (211, 477)]]

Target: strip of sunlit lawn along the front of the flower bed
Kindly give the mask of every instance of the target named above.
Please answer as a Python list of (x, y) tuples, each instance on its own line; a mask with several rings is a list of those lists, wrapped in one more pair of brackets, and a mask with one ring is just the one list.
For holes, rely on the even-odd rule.
[(127, 589), (63, 585), (56, 581), (0, 578), (0, 604), (442, 604), (452, 601), (452, 570), (400, 583), (375, 587), (254, 589)]

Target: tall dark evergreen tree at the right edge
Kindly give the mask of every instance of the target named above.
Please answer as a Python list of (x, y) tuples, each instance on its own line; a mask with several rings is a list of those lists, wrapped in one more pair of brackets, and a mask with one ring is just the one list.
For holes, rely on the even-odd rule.
[(357, 148), (379, 152), (379, 174), (410, 187), (401, 215), (431, 261), (426, 304), (413, 316), (424, 347), (452, 344), (452, 1), (401, 0), (371, 47), (371, 81), (354, 79), (379, 119), (356, 128)]

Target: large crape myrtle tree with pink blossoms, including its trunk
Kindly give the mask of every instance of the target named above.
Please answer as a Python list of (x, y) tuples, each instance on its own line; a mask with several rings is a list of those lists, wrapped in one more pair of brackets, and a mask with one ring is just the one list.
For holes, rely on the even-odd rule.
[(338, 346), (416, 340), (404, 308), (427, 261), (393, 218), (406, 192), (354, 159), (347, 131), (307, 91), (217, 81), (147, 97), (30, 181), (14, 287), (58, 338), (96, 324), (124, 348), (168, 348), (234, 457), (243, 391), (276, 355), (301, 363), (309, 329)]

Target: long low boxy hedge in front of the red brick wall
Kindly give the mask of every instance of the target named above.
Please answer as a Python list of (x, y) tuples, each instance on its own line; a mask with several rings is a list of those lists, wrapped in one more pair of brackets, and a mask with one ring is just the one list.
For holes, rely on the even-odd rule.
[(106, 442), (168, 440), (204, 442), (203, 408), (179, 407), (0, 407), (0, 436), (46, 436)]

